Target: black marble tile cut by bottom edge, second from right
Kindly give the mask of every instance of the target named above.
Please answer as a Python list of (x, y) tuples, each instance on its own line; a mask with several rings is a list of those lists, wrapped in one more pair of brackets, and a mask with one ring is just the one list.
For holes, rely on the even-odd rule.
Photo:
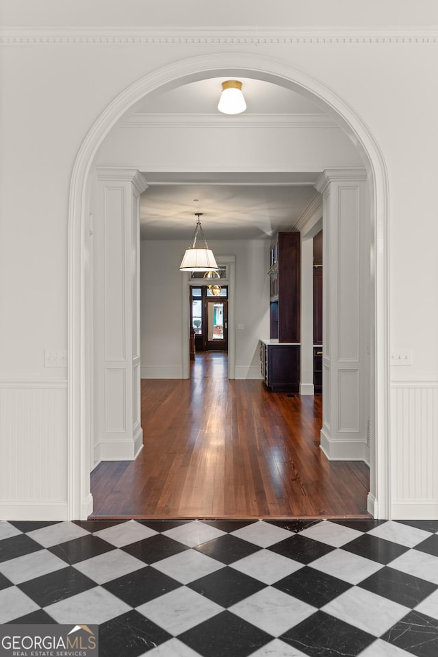
[(376, 637), (318, 611), (282, 634), (280, 639), (309, 657), (356, 657)]

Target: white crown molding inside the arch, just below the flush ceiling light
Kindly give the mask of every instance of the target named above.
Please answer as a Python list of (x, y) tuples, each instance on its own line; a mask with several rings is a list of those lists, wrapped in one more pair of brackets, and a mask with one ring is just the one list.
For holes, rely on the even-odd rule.
[(122, 123), (123, 128), (187, 128), (187, 127), (270, 127), (270, 128), (339, 128), (327, 114), (133, 114)]

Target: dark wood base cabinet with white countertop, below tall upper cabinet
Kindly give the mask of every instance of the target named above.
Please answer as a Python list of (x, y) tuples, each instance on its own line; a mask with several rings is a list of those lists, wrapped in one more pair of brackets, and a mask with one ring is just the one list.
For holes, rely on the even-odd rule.
[(261, 343), (261, 375), (274, 393), (300, 391), (300, 345)]

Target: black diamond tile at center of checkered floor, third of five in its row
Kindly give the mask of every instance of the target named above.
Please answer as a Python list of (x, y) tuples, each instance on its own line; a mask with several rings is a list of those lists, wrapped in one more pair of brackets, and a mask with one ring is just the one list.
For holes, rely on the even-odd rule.
[(230, 607), (248, 595), (261, 591), (266, 584), (233, 568), (225, 567), (191, 582), (188, 586), (222, 607)]

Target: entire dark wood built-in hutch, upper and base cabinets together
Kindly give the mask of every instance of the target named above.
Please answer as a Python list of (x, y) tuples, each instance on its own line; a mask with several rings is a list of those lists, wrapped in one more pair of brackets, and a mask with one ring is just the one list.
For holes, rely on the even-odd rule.
[(270, 249), (270, 340), (261, 340), (263, 381), (274, 392), (300, 391), (300, 233), (281, 232)]

